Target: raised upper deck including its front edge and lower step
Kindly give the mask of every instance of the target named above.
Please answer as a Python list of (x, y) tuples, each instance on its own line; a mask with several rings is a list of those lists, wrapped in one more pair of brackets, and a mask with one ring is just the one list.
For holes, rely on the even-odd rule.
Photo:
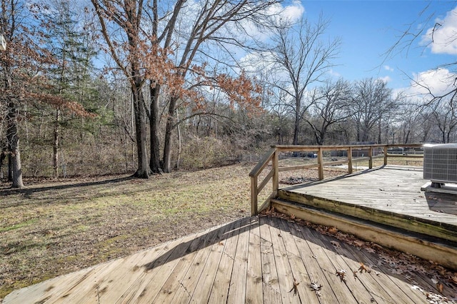
[(282, 213), (457, 269), (457, 195), (423, 192), (421, 168), (387, 166), (282, 188)]

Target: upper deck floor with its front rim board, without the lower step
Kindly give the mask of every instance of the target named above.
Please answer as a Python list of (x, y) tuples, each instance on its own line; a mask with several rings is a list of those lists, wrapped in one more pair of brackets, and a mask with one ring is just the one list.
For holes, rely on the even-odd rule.
[[(316, 208), (457, 241), (456, 216), (452, 211), (434, 211), (431, 200), (421, 191), (422, 185), (421, 171), (386, 167), (284, 188), (278, 195)], [(447, 206), (454, 206), (457, 212), (455, 201)]]

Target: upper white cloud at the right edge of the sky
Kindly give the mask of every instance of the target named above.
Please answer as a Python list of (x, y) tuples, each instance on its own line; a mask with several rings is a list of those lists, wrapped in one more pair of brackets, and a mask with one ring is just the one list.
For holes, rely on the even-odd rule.
[(444, 19), (436, 19), (436, 24), (422, 36), (421, 44), (428, 45), (434, 54), (457, 54), (457, 7), (448, 11)]

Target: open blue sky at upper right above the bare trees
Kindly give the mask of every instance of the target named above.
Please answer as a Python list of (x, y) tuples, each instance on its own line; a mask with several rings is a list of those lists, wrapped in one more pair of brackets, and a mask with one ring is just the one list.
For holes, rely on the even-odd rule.
[[(418, 26), (432, 29), (436, 21), (442, 24), (440, 31), (453, 26), (454, 20), (446, 19), (453, 14), (446, 14), (456, 8), (456, 1), (303, 0), (301, 6), (304, 16), (310, 20), (317, 19), (321, 13), (325, 19), (330, 19), (328, 35), (341, 38), (341, 52), (336, 60), (338, 66), (332, 70), (335, 76), (350, 81), (383, 78), (391, 88), (406, 89), (411, 84), (408, 77), (417, 78), (437, 66), (457, 61), (457, 52), (439, 49), (432, 52), (431, 48), (421, 45), (423, 36), (411, 45), (408, 52), (403, 51), (387, 60), (383, 56), (410, 24), (413, 24), (413, 30)], [(419, 16), (426, 6), (425, 14)], [(433, 18), (427, 24), (419, 22), (432, 14)], [(436, 75), (428, 78), (436, 78)]]

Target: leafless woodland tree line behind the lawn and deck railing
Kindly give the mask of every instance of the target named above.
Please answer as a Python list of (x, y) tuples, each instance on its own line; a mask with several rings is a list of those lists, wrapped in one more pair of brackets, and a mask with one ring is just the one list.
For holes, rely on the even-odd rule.
[(13, 187), (220, 166), (271, 144), (456, 141), (452, 95), (328, 78), (341, 42), (323, 39), (322, 17), (281, 18), (281, 1), (0, 3), (0, 172)]

